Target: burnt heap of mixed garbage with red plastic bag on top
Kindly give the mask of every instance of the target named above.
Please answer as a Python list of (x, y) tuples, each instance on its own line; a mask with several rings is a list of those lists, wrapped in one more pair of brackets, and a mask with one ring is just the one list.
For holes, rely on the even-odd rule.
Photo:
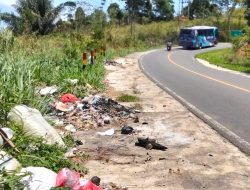
[(46, 119), (55, 126), (64, 126), (66, 130), (76, 132), (136, 117), (132, 109), (102, 95), (79, 99), (73, 94), (64, 94), (60, 101), (50, 105), (50, 113)]

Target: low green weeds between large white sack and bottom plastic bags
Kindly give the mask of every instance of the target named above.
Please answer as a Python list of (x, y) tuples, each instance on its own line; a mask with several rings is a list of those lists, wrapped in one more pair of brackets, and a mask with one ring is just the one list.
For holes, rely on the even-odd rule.
[[(12, 141), (19, 152), (11, 148), (5, 151), (13, 155), (21, 163), (22, 167), (45, 167), (55, 172), (62, 168), (70, 168), (81, 173), (87, 172), (85, 167), (72, 162), (64, 156), (67, 148), (62, 148), (57, 144), (45, 144), (42, 138), (26, 136), (19, 126), (12, 125), (12, 129), (15, 134)], [(66, 143), (72, 145), (72, 138), (67, 137)]]

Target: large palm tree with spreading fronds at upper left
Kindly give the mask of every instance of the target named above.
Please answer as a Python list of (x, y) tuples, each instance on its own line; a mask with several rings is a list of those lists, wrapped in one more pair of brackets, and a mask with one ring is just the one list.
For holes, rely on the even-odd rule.
[(14, 13), (1, 13), (0, 20), (9, 25), (15, 33), (32, 33), (44, 35), (55, 27), (55, 20), (65, 7), (75, 7), (74, 2), (65, 2), (57, 7), (51, 0), (17, 0)]

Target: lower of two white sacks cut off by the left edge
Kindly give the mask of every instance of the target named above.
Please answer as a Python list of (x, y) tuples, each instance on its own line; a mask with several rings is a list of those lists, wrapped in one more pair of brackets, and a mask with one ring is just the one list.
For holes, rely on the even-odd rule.
[(21, 167), (21, 164), (15, 158), (2, 150), (0, 151), (0, 170), (15, 171), (18, 167)]

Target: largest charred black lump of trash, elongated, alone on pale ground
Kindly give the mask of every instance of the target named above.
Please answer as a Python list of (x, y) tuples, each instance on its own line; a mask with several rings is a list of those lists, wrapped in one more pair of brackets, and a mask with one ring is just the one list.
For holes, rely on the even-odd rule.
[(156, 150), (162, 150), (165, 151), (168, 149), (166, 146), (163, 146), (156, 142), (155, 139), (149, 139), (149, 138), (138, 138), (138, 141), (135, 143), (135, 146), (140, 146), (146, 149), (156, 149)]

